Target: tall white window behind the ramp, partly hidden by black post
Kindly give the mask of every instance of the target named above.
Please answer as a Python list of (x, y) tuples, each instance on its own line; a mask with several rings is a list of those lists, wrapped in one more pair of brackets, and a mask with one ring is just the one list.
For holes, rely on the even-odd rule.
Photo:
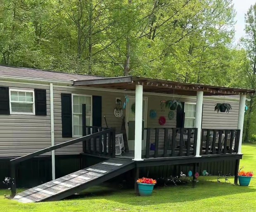
[(72, 94), (73, 137), (83, 136), (82, 105), (86, 104), (86, 125), (92, 125), (92, 96)]

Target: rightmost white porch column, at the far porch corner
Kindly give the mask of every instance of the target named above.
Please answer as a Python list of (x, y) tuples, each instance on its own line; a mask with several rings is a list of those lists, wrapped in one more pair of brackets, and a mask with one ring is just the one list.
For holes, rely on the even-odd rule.
[(242, 138), (243, 138), (243, 128), (244, 128), (244, 108), (245, 108), (245, 97), (246, 95), (240, 94), (239, 100), (239, 112), (238, 112), (238, 123), (237, 129), (240, 130), (240, 137), (238, 143), (238, 153), (242, 153)]

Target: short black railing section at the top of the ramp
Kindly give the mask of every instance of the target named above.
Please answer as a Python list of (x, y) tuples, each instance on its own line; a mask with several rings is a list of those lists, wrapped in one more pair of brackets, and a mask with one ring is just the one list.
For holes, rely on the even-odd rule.
[(110, 131), (83, 142), (84, 153), (90, 153), (92, 155), (106, 155), (111, 156), (112, 158), (115, 157), (116, 132), (114, 128), (85, 126), (83, 127), (83, 135), (104, 132), (105, 130)]

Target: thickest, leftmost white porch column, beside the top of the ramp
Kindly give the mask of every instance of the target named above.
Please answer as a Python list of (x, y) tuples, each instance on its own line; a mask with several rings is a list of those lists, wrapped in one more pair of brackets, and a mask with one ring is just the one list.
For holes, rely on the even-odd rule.
[(135, 90), (135, 141), (134, 141), (134, 159), (141, 159), (142, 148), (142, 102), (143, 102), (143, 86), (136, 85)]

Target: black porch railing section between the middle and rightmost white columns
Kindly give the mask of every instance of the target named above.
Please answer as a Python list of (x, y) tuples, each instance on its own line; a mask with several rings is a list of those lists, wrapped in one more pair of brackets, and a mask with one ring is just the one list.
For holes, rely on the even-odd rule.
[(201, 155), (237, 153), (240, 130), (213, 130), (201, 131)]

